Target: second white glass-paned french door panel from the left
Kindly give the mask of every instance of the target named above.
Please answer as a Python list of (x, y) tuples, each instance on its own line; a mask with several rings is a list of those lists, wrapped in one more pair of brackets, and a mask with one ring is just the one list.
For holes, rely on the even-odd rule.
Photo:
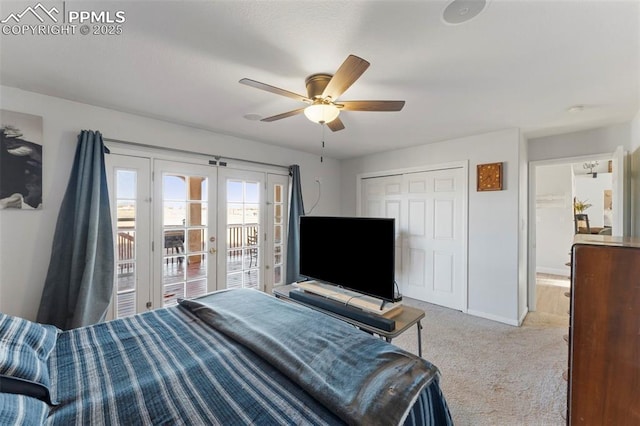
[(154, 160), (154, 178), (153, 306), (164, 307), (216, 290), (217, 178), (214, 167), (166, 160)]

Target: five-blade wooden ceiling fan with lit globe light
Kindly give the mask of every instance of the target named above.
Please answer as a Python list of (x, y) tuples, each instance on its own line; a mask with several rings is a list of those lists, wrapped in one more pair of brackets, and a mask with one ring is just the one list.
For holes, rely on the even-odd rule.
[(243, 78), (240, 83), (262, 89), (276, 95), (286, 96), (307, 106), (284, 112), (260, 121), (276, 121), (304, 112), (315, 123), (327, 125), (332, 131), (344, 129), (338, 117), (340, 111), (400, 111), (404, 101), (338, 101), (338, 98), (369, 68), (369, 62), (355, 55), (349, 55), (334, 75), (313, 74), (305, 79), (307, 96), (280, 89), (259, 81)]

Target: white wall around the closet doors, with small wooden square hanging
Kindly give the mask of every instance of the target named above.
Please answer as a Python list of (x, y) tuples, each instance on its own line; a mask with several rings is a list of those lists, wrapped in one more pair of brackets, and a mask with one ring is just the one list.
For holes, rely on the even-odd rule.
[[(356, 214), (356, 177), (360, 173), (468, 160), (468, 312), (516, 325), (521, 314), (518, 260), (522, 221), (523, 233), (526, 230), (526, 219), (521, 217), (526, 213), (519, 212), (520, 168), (521, 162), (526, 162), (526, 153), (519, 152), (523, 147), (519, 131), (509, 129), (345, 160), (342, 214)], [(477, 192), (477, 164), (498, 161), (504, 162), (505, 189)]]

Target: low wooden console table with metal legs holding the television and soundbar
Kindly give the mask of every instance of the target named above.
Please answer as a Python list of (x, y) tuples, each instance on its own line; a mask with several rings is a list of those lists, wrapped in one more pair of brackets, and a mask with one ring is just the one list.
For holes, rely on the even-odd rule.
[(368, 333), (377, 334), (381, 338), (384, 338), (387, 342), (391, 343), (391, 341), (395, 338), (407, 331), (412, 326), (416, 326), (418, 330), (418, 356), (422, 357), (422, 324), (420, 321), (424, 318), (424, 311), (420, 309), (413, 308), (411, 306), (405, 306), (398, 308), (397, 310), (391, 311), (385, 315), (385, 318), (392, 319), (396, 322), (396, 328), (393, 331), (385, 331), (376, 327), (372, 327), (368, 324), (361, 323), (359, 321), (353, 320), (351, 318), (347, 318), (343, 315), (336, 314), (335, 312), (327, 311), (325, 309), (318, 308), (313, 305), (309, 305), (306, 303), (302, 303), (298, 300), (292, 299), (289, 297), (289, 292), (291, 290), (296, 289), (297, 287), (294, 284), (284, 285), (280, 287), (276, 287), (273, 289), (273, 294), (279, 299), (283, 299), (289, 302), (298, 303), (300, 305), (307, 306), (311, 309), (315, 309), (327, 315), (331, 315), (334, 318), (338, 318), (341, 321), (349, 323), (355, 327), (358, 327), (361, 330), (364, 330)]

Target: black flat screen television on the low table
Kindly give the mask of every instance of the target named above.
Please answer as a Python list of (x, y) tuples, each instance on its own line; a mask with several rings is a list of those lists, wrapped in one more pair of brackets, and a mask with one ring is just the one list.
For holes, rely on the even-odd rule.
[(395, 292), (395, 220), (301, 216), (300, 275), (400, 300)]

